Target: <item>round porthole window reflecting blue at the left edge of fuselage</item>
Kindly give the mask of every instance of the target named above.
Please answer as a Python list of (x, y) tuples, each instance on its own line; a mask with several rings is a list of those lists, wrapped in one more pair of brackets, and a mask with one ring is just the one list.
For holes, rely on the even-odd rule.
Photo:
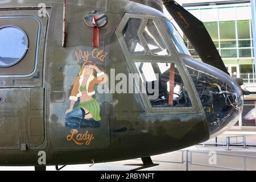
[(26, 55), (28, 38), (19, 27), (0, 28), (0, 67), (11, 67)]

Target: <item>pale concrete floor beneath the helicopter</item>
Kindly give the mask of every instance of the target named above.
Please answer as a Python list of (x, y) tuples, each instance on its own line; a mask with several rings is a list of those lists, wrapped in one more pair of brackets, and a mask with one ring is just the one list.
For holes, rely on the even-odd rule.
[[(227, 136), (231, 137), (234, 135), (243, 135), (245, 133), (224, 133), (218, 137), (218, 142), (225, 143), (225, 138)], [(249, 145), (256, 146), (256, 133), (247, 133), (246, 134), (246, 141)], [(214, 142), (214, 139), (210, 140), (209, 142)], [(185, 164), (178, 164), (181, 163), (185, 159), (185, 150), (192, 151), (192, 163), (188, 164), (189, 170), (228, 170), (225, 168), (216, 168), (216, 166), (221, 167), (228, 167), (228, 168), (236, 168), (236, 169), (243, 169), (244, 164), (246, 163), (246, 170), (256, 170), (256, 147), (247, 147), (243, 148), (241, 146), (232, 146), (230, 147), (230, 151), (225, 150), (225, 146), (203, 146), (203, 145), (196, 145), (189, 148), (185, 148), (181, 151), (175, 151), (168, 154), (152, 156), (152, 160), (154, 163), (160, 164), (159, 166), (147, 168), (144, 170), (147, 171), (155, 171), (155, 170), (162, 170), (162, 171), (176, 171), (176, 170), (185, 170)], [(182, 152), (183, 151), (183, 152)], [(210, 153), (209, 153), (210, 152)], [(214, 156), (209, 154), (215, 154)], [(224, 154), (224, 155), (223, 155)], [(228, 155), (226, 155), (228, 154)], [(182, 158), (182, 155), (184, 158)], [(240, 155), (240, 156), (233, 156), (233, 155)], [(246, 159), (244, 156), (247, 156)], [(190, 158), (190, 153), (188, 154), (188, 159)], [(212, 159), (212, 160), (210, 160)], [(210, 161), (210, 162), (209, 162)], [(176, 163), (171, 163), (176, 162)], [(209, 163), (214, 163), (211, 167), (206, 166), (197, 166), (194, 164), (203, 164), (209, 165)], [(67, 166), (63, 168), (63, 171), (129, 171), (131, 169), (137, 168), (135, 166), (124, 166), (124, 164), (139, 164), (142, 163), (141, 159), (133, 159), (133, 160), (124, 160), (119, 162), (112, 162), (112, 163), (100, 163), (95, 164), (92, 167), (89, 167), (89, 164), (86, 165), (73, 165)], [(0, 167), (0, 171), (32, 171), (34, 167)], [(229, 169), (230, 170), (230, 169)], [(47, 167), (47, 171), (55, 171), (55, 166)]]

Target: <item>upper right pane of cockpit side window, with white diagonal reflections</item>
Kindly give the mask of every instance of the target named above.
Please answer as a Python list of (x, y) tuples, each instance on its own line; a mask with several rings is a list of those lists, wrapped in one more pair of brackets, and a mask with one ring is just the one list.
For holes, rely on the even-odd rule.
[(153, 20), (148, 20), (147, 26), (143, 32), (143, 37), (152, 55), (170, 55)]

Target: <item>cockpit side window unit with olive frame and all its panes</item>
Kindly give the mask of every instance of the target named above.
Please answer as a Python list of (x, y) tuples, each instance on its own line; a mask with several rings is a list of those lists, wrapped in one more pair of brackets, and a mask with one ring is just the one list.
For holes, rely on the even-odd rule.
[(166, 18), (126, 13), (115, 34), (148, 113), (200, 112)]

